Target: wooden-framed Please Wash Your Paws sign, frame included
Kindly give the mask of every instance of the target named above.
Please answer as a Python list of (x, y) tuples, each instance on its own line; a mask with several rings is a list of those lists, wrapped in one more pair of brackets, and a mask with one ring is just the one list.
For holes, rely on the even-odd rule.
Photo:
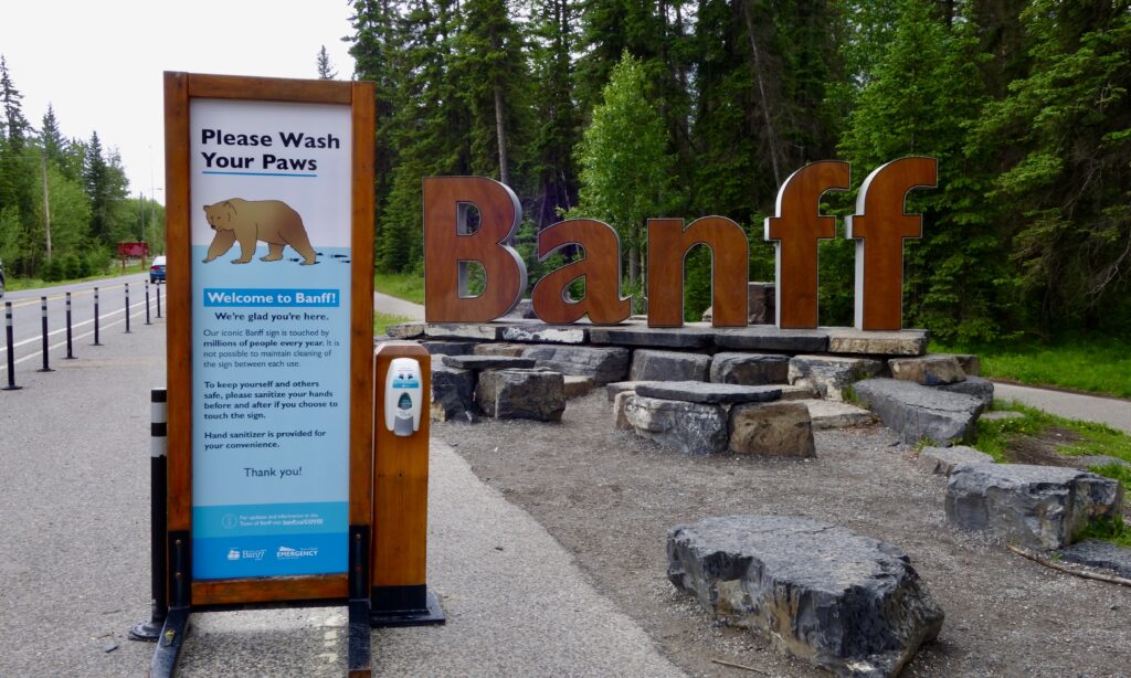
[(372, 85), (167, 72), (165, 125), (171, 607), (344, 600), (372, 505)]

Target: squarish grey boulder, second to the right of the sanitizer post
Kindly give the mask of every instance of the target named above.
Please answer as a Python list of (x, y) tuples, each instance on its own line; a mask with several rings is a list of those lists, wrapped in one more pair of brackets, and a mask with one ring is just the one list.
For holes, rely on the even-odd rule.
[(560, 421), (566, 385), (558, 372), (492, 370), (480, 375), (475, 401), (489, 417)]

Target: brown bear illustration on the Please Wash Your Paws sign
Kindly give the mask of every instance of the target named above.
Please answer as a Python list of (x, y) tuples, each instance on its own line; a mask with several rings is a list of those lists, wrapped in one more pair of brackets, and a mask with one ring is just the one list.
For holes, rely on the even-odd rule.
[(317, 263), (318, 254), (310, 246), (310, 237), (302, 225), (302, 217), (282, 200), (244, 200), (232, 198), (205, 206), (208, 225), (216, 232), (204, 262), (221, 257), (240, 243), (240, 258), (232, 263), (248, 263), (256, 253), (258, 241), (267, 243), (267, 257), (260, 261), (283, 259), (283, 247), (291, 245), (302, 254), (302, 266)]

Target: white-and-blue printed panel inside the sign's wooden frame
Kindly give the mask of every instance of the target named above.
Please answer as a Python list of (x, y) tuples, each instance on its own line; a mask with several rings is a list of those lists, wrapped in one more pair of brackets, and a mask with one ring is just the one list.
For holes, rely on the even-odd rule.
[[(192, 575), (343, 573), (349, 107), (191, 106)], [(273, 139), (271, 162), (225, 145), (241, 134)], [(217, 172), (225, 157), (248, 171)]]

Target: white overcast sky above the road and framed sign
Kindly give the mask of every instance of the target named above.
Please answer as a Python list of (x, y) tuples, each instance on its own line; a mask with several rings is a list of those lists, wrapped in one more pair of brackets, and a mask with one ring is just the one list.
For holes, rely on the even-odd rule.
[(97, 130), (132, 194), (164, 203), (162, 73), (316, 78), (326, 45), (346, 80), (351, 14), (346, 0), (17, 0), (0, 21), (0, 54), (34, 128), (51, 103), (66, 137)]

